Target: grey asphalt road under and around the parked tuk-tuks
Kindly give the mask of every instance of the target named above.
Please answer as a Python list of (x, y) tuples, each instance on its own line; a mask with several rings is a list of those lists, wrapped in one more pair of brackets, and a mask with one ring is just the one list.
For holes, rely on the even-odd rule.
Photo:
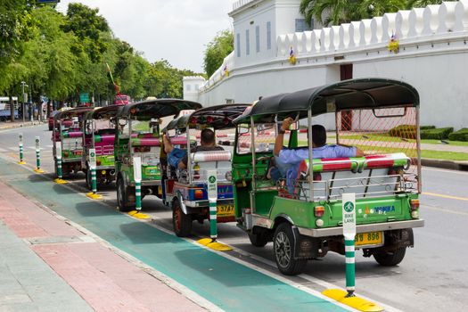
[[(25, 160), (35, 166), (34, 138), (41, 138), (41, 163), (53, 178), (51, 132), (46, 125), (0, 131), (0, 156), (18, 157), (18, 134), (24, 135)], [(84, 192), (84, 175), (69, 178), (77, 192)], [(425, 227), (415, 229), (415, 248), (406, 251), (398, 267), (380, 267), (374, 259), (357, 252), (357, 293), (385, 305), (387, 310), (463, 311), (468, 306), (468, 172), (423, 168), (423, 195), (420, 213)], [(81, 188), (81, 189), (80, 189)], [(99, 190), (109, 209), (115, 209), (115, 185)], [(155, 197), (143, 201), (152, 224), (171, 229), (171, 212)], [(209, 225), (193, 223), (192, 239), (209, 234)], [(234, 247), (230, 255), (277, 275), (272, 244), (256, 248), (234, 224), (218, 226), (219, 240)], [(323, 291), (345, 286), (344, 258), (329, 253), (324, 259), (308, 262), (306, 272), (288, 279)]]

